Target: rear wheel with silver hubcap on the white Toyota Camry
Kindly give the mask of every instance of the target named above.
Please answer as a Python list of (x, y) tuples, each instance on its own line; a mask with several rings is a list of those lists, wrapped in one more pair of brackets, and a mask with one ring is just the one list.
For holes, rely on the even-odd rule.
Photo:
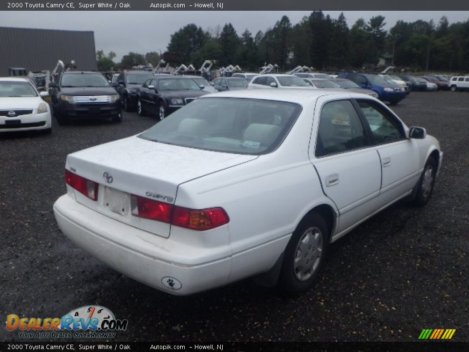
[(312, 213), (301, 220), (283, 255), (278, 284), (283, 291), (307, 291), (318, 279), (329, 244), (325, 220)]

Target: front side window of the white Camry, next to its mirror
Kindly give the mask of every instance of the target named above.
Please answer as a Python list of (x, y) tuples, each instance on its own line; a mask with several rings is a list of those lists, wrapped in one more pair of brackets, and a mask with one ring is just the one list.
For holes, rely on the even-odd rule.
[(405, 138), (402, 125), (388, 111), (372, 101), (359, 100), (358, 104), (370, 127), (374, 143), (391, 143)]

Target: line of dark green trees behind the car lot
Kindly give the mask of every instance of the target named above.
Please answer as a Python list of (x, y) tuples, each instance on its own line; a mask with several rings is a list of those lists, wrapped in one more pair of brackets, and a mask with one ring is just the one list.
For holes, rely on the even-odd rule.
[[(281, 71), (298, 65), (336, 71), (374, 67), (387, 54), (393, 66), (408, 70), (469, 70), (469, 20), (449, 24), (443, 16), (438, 24), (398, 21), (388, 31), (385, 25), (384, 16), (375, 16), (349, 28), (343, 13), (333, 19), (322, 11), (313, 11), (294, 25), (283, 16), (254, 36), (247, 29), (238, 35), (231, 23), (206, 30), (191, 23), (171, 35), (167, 49), (178, 57), (178, 64), (196, 68), (205, 60), (216, 60), (217, 66), (239, 65), (246, 71), (257, 71), (266, 63), (277, 64)], [(98, 67), (106, 58), (112, 62), (112, 52), (101, 54)], [(115, 66), (156, 65), (159, 58), (156, 52), (130, 52)]]

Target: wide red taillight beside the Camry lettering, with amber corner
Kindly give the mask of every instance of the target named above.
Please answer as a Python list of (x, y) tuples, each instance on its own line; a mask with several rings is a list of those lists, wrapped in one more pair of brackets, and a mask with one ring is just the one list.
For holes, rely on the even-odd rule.
[(130, 199), (133, 216), (167, 222), (191, 230), (210, 230), (230, 221), (222, 208), (196, 210), (134, 195)]

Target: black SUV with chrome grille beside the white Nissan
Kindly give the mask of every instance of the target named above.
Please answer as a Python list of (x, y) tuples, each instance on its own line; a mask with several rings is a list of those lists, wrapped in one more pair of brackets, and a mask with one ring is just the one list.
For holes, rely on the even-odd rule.
[(122, 121), (119, 94), (99, 72), (65, 71), (49, 87), (54, 116), (61, 125), (97, 117)]

